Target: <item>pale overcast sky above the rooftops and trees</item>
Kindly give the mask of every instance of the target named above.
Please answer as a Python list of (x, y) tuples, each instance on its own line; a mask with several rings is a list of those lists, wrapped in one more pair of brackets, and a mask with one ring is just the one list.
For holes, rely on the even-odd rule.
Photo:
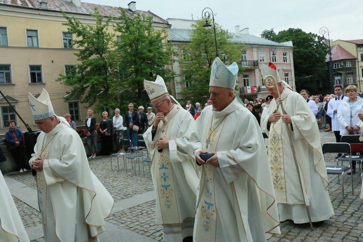
[[(81, 0), (102, 5), (127, 8), (131, 0)], [(200, 19), (202, 10), (210, 7), (217, 14), (215, 22), (223, 29), (235, 31), (249, 28), (259, 36), (263, 30), (277, 33), (300, 28), (319, 34), (329, 29), (331, 40), (363, 39), (362, 0), (135, 0), (137, 10), (150, 10), (166, 18)], [(325, 35), (328, 38), (327, 35)]]

